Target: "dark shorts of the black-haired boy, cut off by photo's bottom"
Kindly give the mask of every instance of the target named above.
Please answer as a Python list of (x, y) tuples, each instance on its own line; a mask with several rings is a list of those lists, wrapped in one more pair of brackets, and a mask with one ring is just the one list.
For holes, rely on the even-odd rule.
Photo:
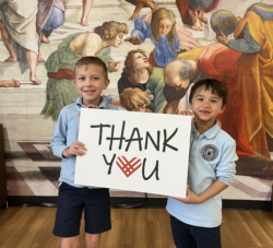
[(188, 225), (170, 215), (173, 237), (177, 248), (221, 248), (221, 232), (217, 227)]

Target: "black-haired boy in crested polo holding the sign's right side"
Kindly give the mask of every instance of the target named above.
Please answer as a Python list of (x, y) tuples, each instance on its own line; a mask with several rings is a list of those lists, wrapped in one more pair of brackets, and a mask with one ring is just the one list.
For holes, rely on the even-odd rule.
[[(168, 198), (167, 211), (178, 248), (221, 248), (222, 199), (236, 173), (235, 141), (216, 117), (227, 103), (228, 90), (217, 80), (197, 82), (190, 93), (194, 114), (191, 128), (186, 198)], [(191, 115), (183, 111), (181, 115)]]

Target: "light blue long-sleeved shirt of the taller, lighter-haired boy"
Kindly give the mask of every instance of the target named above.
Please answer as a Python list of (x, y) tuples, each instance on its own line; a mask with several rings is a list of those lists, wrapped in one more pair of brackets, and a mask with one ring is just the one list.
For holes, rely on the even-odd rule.
[[(64, 181), (78, 188), (83, 188), (84, 186), (74, 184), (75, 157), (76, 156), (64, 158), (62, 157), (62, 152), (67, 147), (70, 147), (70, 145), (73, 142), (78, 141), (79, 123), (80, 123), (79, 111), (81, 111), (81, 108), (85, 108), (85, 106), (82, 104), (82, 97), (79, 97), (76, 103), (68, 105), (61, 109), (61, 113), (59, 115), (59, 118), (55, 128), (55, 133), (50, 143), (54, 155), (62, 158), (61, 174), (60, 174), (59, 181)], [(114, 110), (120, 109), (116, 107), (115, 105), (108, 104), (104, 97), (102, 97), (102, 103), (99, 104), (98, 108), (114, 109)]]

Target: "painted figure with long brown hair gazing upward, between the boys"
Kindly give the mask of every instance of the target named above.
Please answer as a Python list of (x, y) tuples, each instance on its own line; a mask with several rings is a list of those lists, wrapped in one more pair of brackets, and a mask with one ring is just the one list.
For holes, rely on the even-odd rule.
[(147, 91), (151, 99), (147, 108), (154, 113), (163, 113), (166, 105), (164, 86), (163, 69), (153, 68), (143, 50), (131, 50), (126, 58), (121, 79), (118, 81), (119, 94), (128, 87)]

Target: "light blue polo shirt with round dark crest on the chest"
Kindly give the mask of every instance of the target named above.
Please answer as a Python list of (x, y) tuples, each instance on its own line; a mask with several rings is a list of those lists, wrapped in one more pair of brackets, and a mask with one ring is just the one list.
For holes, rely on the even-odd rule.
[[(188, 185), (200, 194), (214, 181), (230, 185), (236, 173), (236, 142), (217, 121), (202, 135), (191, 128), (191, 142), (188, 169)], [(201, 227), (216, 227), (222, 223), (222, 199), (219, 194), (201, 204), (186, 204), (168, 198), (167, 211), (181, 222)]]

